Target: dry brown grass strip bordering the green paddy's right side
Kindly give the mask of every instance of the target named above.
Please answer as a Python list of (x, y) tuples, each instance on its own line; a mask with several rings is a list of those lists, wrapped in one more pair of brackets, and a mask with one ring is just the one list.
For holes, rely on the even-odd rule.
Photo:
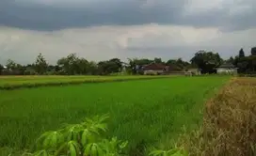
[(181, 137), (190, 155), (256, 155), (256, 79), (235, 78), (204, 110), (199, 131)]

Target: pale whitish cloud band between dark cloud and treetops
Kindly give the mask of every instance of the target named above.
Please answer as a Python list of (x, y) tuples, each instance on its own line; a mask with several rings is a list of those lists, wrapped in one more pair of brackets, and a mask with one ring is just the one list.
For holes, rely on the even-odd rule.
[(8, 58), (22, 64), (32, 63), (40, 53), (50, 63), (56, 63), (58, 58), (71, 53), (95, 61), (156, 56), (163, 60), (178, 57), (189, 60), (200, 49), (228, 58), (237, 55), (240, 48), (248, 54), (249, 48), (255, 46), (253, 34), (256, 34), (256, 28), (224, 33), (216, 28), (160, 24), (99, 26), (54, 32), (0, 26), (0, 63), (5, 64)]

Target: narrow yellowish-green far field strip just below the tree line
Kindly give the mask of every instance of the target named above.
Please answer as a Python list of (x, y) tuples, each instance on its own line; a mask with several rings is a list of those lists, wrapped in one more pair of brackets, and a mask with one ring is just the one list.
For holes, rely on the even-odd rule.
[(2, 76), (0, 77), (0, 89), (15, 89), (20, 87), (37, 87), (37, 86), (63, 86), (72, 84), (88, 84), (128, 81), (139, 79), (169, 78), (163, 76)]

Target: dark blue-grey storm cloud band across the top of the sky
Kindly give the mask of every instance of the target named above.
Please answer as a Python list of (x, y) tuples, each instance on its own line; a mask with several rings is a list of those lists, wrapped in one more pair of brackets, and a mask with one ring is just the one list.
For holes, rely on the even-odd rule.
[[(36, 3), (38, 2), (38, 3)], [(218, 26), (223, 30), (247, 29), (256, 26), (253, 0), (249, 11), (229, 15), (230, 8), (213, 8), (184, 16), (187, 0), (1, 0), (0, 25), (24, 29), (56, 30), (71, 27), (145, 23), (183, 24), (198, 27)], [(71, 1), (70, 1), (71, 2)], [(148, 2), (148, 3), (147, 3)], [(239, 1), (238, 4), (242, 2)], [(66, 5), (65, 5), (66, 4)]]

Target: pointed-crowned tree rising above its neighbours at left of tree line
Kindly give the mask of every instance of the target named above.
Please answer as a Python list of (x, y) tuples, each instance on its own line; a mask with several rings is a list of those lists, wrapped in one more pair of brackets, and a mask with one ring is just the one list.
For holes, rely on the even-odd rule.
[(35, 62), (35, 70), (39, 74), (44, 74), (47, 71), (48, 64), (43, 55), (38, 55), (36, 62)]

